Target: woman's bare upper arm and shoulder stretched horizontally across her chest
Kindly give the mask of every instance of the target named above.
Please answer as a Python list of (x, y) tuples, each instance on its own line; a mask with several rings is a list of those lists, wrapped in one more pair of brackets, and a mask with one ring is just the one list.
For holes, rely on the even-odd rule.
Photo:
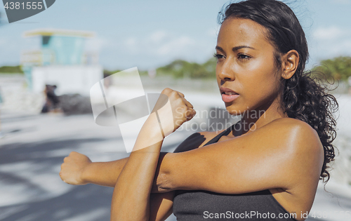
[(323, 161), (323, 147), (315, 130), (296, 119), (276, 119), (237, 138), (166, 154), (152, 192), (289, 191), (302, 183), (317, 185)]

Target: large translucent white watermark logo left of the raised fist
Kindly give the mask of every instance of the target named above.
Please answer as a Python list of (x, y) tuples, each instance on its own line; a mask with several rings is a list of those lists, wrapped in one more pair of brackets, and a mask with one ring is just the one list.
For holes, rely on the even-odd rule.
[[(108, 86), (111, 82), (114, 82), (113, 89)], [(119, 126), (127, 153), (132, 152), (139, 131), (151, 114), (157, 116), (160, 127), (159, 140), (154, 143), (168, 135), (162, 129), (166, 128), (164, 122), (167, 119), (173, 119), (168, 96), (161, 93), (145, 93), (136, 67), (98, 81), (91, 87), (90, 97), (95, 123), (100, 126)], [(158, 100), (157, 108), (154, 108)], [(166, 113), (161, 119), (160, 111)], [(145, 141), (145, 145), (138, 149), (154, 143)]]

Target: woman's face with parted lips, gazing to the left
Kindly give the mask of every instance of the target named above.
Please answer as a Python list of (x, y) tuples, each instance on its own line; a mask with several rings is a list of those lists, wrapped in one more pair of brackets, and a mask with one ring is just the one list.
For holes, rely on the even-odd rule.
[(279, 74), (265, 27), (253, 20), (227, 18), (218, 34), (216, 76), (230, 114), (265, 109), (276, 101)]

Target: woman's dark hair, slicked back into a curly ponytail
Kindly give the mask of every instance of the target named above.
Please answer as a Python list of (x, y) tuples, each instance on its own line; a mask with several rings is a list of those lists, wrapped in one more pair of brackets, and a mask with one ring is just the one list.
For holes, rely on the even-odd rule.
[(308, 48), (298, 18), (289, 6), (276, 0), (247, 0), (229, 4), (219, 13), (218, 22), (222, 24), (227, 18), (250, 19), (265, 27), (267, 39), (275, 48), (274, 60), (278, 69), (281, 68), (283, 54), (291, 50), (298, 51), (300, 60), (295, 74), (282, 81), (282, 108), (287, 116), (305, 121), (317, 131), (324, 148), (324, 163), (319, 180), (328, 182), (330, 174), (327, 169), (335, 157), (331, 143), (336, 138), (336, 119), (333, 114), (338, 111), (338, 102), (329, 94), (328, 87), (317, 78), (317, 74), (304, 72)]

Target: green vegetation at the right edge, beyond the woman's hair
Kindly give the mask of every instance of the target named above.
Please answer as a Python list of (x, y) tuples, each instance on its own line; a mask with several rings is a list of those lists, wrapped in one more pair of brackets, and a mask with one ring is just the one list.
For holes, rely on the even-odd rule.
[(328, 60), (322, 60), (322, 65), (314, 67), (313, 71), (322, 72), (327, 79), (336, 81), (347, 81), (351, 76), (351, 57), (338, 57)]

